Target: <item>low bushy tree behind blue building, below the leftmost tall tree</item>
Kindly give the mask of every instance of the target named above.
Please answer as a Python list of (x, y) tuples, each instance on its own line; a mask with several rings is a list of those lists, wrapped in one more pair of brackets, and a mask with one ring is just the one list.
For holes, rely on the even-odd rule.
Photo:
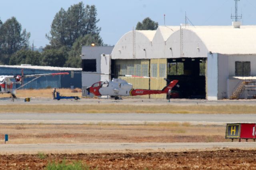
[(31, 64), (40, 65), (41, 53), (27, 49), (20, 49), (10, 57), (10, 65)]

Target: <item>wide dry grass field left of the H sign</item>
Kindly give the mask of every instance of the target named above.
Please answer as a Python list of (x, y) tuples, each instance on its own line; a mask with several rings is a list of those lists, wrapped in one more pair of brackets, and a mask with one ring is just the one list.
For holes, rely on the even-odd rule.
[(9, 144), (93, 142), (225, 142), (223, 125), (160, 123), (148, 125), (0, 124)]

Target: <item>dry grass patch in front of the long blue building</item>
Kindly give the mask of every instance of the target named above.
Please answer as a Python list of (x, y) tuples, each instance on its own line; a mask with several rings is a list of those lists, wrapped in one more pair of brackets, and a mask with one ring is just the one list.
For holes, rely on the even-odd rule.
[[(17, 97), (45, 97), (45, 98), (52, 98), (52, 91), (51, 89), (20, 89), (16, 91)], [(57, 89), (60, 92), (60, 95), (63, 96), (82, 96), (81, 89)], [(10, 94), (3, 94), (1, 97), (10, 97)]]

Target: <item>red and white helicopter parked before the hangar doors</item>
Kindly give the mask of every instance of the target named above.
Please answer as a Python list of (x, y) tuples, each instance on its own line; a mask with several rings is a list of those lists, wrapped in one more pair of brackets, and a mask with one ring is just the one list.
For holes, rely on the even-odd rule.
[[(131, 76), (127, 76), (131, 77)], [(138, 76), (132, 76), (138, 77)], [(123, 79), (112, 79), (112, 81), (99, 81), (94, 83), (92, 86), (87, 87), (86, 90), (88, 94), (92, 93), (95, 96), (111, 96), (114, 97), (115, 100), (119, 99), (119, 96), (136, 96), (136, 95), (152, 95), (152, 94), (168, 94), (169, 90), (174, 86), (179, 87), (177, 85), (178, 80), (169, 81), (168, 85), (164, 87), (162, 90), (145, 90), (145, 89), (133, 89), (132, 84), (127, 83), (127, 81)]]

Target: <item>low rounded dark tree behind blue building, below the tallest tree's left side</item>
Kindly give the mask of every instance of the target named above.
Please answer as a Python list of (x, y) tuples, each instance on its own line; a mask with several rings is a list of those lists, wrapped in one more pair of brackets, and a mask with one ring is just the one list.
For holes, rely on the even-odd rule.
[(66, 62), (65, 54), (58, 49), (46, 49), (42, 52), (41, 65), (63, 67)]

